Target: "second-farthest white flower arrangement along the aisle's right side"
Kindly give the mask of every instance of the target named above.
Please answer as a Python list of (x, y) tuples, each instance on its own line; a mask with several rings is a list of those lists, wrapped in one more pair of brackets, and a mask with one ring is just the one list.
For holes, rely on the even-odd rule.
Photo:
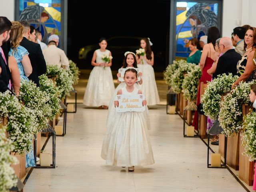
[(171, 76), (171, 87), (175, 93), (180, 93), (182, 91), (182, 84), (184, 81), (184, 75), (188, 72), (191, 72), (195, 64), (187, 63), (186, 61), (181, 60), (179, 62), (179, 67), (175, 70), (174, 74)]

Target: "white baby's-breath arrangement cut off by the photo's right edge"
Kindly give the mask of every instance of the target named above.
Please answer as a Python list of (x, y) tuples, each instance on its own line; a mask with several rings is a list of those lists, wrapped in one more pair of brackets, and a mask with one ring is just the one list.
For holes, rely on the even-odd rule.
[(250, 161), (254, 161), (256, 160), (256, 112), (246, 116), (243, 130), (242, 146), (244, 146), (244, 154), (250, 158)]

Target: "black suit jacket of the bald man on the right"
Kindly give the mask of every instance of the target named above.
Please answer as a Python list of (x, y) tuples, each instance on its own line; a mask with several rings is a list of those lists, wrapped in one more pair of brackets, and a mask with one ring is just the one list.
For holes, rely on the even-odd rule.
[(242, 56), (236, 52), (234, 49), (226, 51), (222, 56), (220, 56), (216, 71), (212, 75), (212, 79), (217, 78), (217, 75), (220, 74), (229, 74), (232, 73), (233, 76), (237, 74), (236, 65)]

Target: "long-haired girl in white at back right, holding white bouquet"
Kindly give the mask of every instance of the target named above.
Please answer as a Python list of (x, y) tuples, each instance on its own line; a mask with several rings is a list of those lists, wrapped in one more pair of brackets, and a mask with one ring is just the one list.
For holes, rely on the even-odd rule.
[(147, 98), (148, 105), (156, 105), (160, 103), (158, 90), (156, 86), (154, 68), (154, 54), (151, 50), (152, 43), (148, 38), (142, 38), (140, 40), (140, 47), (144, 49), (144, 53), (140, 53), (140, 50), (136, 51), (136, 60), (138, 68), (143, 73), (143, 84), (140, 86), (143, 94)]

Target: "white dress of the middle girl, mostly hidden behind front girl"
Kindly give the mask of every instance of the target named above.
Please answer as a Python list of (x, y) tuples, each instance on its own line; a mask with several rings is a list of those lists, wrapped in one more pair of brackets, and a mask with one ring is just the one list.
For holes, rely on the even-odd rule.
[[(107, 130), (109, 129), (109, 127), (111, 126), (112, 122), (115, 120), (115, 115), (118, 113), (116, 112), (116, 108), (114, 106), (114, 100), (116, 98), (116, 94), (118, 92), (118, 90), (124, 88), (126, 86), (125, 82), (121, 82), (117, 87), (116, 90), (114, 91), (114, 94), (112, 95), (110, 102), (108, 104), (108, 117), (107, 117)], [(140, 89), (139, 84), (135, 83), (134, 86), (138, 89)], [(142, 92), (142, 94), (144, 94)], [(142, 112), (142, 114), (144, 115), (144, 118), (147, 120), (148, 123), (148, 129), (150, 130), (150, 120), (149, 120), (149, 113), (148, 113), (148, 108), (146, 107), (146, 110), (144, 112)]]

